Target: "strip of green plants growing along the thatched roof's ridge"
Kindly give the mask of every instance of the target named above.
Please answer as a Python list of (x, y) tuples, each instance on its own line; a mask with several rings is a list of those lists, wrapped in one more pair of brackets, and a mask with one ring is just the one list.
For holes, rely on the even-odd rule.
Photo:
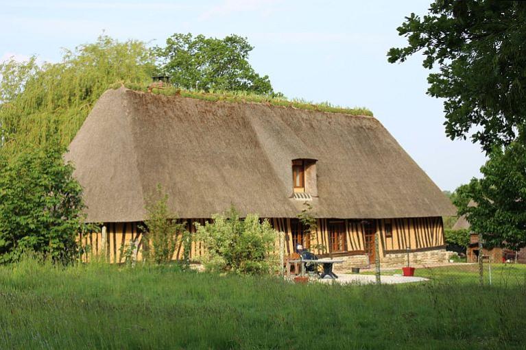
[[(125, 88), (134, 91), (148, 92), (148, 85), (146, 84), (123, 84)], [(119, 88), (122, 84), (113, 84), (111, 88)], [(166, 96), (182, 96), (189, 97), (192, 99), (202, 99), (206, 101), (225, 101), (233, 103), (268, 103), (271, 105), (278, 105), (283, 107), (294, 107), (300, 110), (312, 110), (318, 112), (331, 112), (340, 114), (349, 114), (352, 116), (373, 116), (371, 110), (364, 107), (355, 108), (343, 108), (339, 105), (332, 105), (331, 103), (312, 103), (310, 101), (304, 101), (302, 99), (286, 99), (285, 97), (273, 97), (268, 95), (257, 95), (252, 92), (246, 91), (195, 91), (195, 90), (184, 90), (170, 86), (167, 88), (159, 89), (153, 88), (152, 93), (156, 95)]]

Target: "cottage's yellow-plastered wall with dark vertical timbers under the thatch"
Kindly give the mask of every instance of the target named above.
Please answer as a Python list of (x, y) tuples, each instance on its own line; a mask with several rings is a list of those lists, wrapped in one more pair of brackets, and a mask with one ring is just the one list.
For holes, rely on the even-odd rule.
[[(184, 219), (187, 229), (195, 234), (194, 223), (204, 223), (209, 220), (205, 218)], [(285, 233), (285, 255), (292, 255), (295, 251), (295, 238), (297, 229), (297, 218), (269, 218), (271, 225), (279, 232)], [(338, 223), (339, 225), (334, 225)], [(379, 237), (379, 249), (381, 260), (388, 259), (390, 254), (430, 251), (433, 249), (444, 249), (444, 229), (440, 216), (424, 218), (382, 218), (382, 219), (339, 219), (318, 218), (318, 228), (315, 234), (309, 237), (311, 251), (317, 255), (348, 256), (367, 255), (370, 252), (370, 240), (368, 235)], [(104, 223), (106, 226), (106, 258), (110, 262), (121, 263), (124, 260), (123, 251), (130, 242), (140, 242), (143, 236), (142, 222), (132, 223)], [(334, 232), (334, 227), (342, 227), (340, 236)], [(367, 227), (374, 227), (368, 232)], [(376, 235), (377, 234), (377, 235)], [(338, 237), (339, 245), (334, 245), (333, 240)], [(343, 238), (342, 238), (343, 237)], [(88, 233), (80, 236), (84, 247), (88, 247), (83, 259), (89, 260), (92, 254), (101, 253), (103, 247), (101, 233)], [(374, 242), (374, 241), (372, 241)], [(324, 251), (314, 249), (316, 245), (324, 246)], [(334, 250), (334, 247), (343, 249)], [(201, 242), (192, 240), (190, 259), (198, 262), (204, 255), (204, 246)], [(139, 253), (139, 259), (141, 255)], [(174, 259), (182, 258), (182, 247), (174, 254)]]

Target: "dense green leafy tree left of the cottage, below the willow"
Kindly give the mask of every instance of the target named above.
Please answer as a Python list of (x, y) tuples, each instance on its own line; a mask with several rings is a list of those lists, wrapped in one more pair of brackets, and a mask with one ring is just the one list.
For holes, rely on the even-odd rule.
[(50, 145), (16, 156), (0, 154), (0, 263), (27, 251), (71, 262), (82, 231), (82, 188), (64, 149)]

